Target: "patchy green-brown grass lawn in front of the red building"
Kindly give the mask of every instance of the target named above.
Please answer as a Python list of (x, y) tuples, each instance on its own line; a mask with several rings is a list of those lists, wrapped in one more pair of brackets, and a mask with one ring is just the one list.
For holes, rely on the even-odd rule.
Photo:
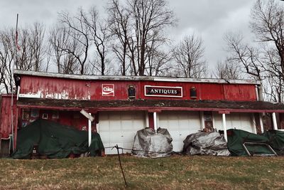
[(284, 157), (0, 159), (0, 189), (284, 189)]

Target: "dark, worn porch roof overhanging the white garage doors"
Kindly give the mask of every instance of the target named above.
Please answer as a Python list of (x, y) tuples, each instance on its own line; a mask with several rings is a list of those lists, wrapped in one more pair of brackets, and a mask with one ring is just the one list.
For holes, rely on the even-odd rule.
[(54, 100), (19, 98), (18, 107), (55, 110), (196, 110), (229, 112), (284, 112), (284, 105), (263, 101), (224, 100)]

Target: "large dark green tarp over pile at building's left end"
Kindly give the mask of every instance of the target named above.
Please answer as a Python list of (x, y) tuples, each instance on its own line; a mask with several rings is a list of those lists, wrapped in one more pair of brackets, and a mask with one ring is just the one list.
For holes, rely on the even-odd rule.
[(12, 157), (30, 158), (35, 144), (38, 145), (38, 153), (48, 158), (65, 158), (70, 154), (85, 152), (90, 152), (91, 156), (97, 156), (104, 149), (98, 133), (92, 133), (92, 143), (88, 147), (87, 131), (40, 119), (18, 131), (17, 146)]

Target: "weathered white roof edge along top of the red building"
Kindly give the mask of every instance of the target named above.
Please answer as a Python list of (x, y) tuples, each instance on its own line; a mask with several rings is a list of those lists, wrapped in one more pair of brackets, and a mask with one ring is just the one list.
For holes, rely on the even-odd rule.
[(110, 75), (70, 75), (60, 73), (45, 73), (30, 70), (14, 70), (14, 75), (32, 75), (49, 78), (70, 78), (77, 80), (152, 80), (163, 82), (187, 82), (187, 83), (232, 83), (232, 84), (254, 84), (261, 85), (259, 80), (239, 79), (239, 80), (224, 80), (217, 78), (170, 78), (170, 77), (153, 77), (153, 76), (110, 76)]

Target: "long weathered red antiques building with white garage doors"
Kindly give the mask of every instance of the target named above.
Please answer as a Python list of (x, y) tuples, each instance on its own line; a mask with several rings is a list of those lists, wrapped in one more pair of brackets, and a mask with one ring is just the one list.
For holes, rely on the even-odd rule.
[[(99, 132), (105, 147), (132, 147), (137, 130), (167, 128), (173, 150), (188, 134), (236, 128), (263, 131), (262, 114), (284, 106), (261, 101), (256, 80), (63, 75), (15, 70), (17, 128), (37, 118)], [(92, 113), (89, 122), (80, 110)], [(3, 112), (3, 109), (2, 109)], [(2, 126), (1, 126), (2, 127)], [(5, 134), (6, 135), (6, 134)], [(16, 135), (16, 130), (15, 130)], [(111, 149), (106, 149), (111, 154)], [(115, 153), (115, 152), (114, 152)]]

